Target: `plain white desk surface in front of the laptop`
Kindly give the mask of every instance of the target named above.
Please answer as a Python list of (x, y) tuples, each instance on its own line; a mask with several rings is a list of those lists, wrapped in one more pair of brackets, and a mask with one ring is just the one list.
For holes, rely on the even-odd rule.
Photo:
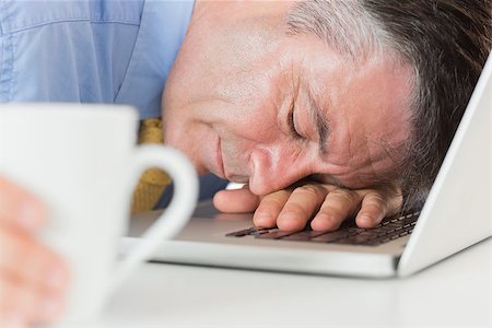
[(491, 327), (491, 238), (407, 279), (148, 263), (83, 327)]

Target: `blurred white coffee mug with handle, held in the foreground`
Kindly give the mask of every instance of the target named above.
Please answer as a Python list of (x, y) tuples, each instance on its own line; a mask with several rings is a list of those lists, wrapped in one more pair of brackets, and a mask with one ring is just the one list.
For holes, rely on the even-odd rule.
[[(49, 222), (39, 238), (70, 265), (60, 323), (96, 317), (110, 292), (195, 209), (198, 178), (190, 162), (169, 148), (136, 147), (137, 132), (138, 114), (128, 106), (0, 105), (0, 175), (47, 204)], [(173, 200), (141, 244), (118, 260), (132, 191), (141, 173), (155, 166), (172, 177)]]

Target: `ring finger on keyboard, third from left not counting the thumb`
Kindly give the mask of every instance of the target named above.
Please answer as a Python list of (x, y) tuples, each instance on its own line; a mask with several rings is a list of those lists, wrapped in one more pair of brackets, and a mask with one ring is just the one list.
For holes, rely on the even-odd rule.
[(333, 231), (360, 207), (361, 196), (352, 190), (336, 189), (329, 192), (311, 223), (315, 231)]

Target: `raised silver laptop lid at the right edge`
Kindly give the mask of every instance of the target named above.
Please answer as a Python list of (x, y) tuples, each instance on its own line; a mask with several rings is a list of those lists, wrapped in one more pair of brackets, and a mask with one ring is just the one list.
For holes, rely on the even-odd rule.
[(401, 256), (399, 276), (412, 274), (492, 235), (491, 77), (490, 55)]

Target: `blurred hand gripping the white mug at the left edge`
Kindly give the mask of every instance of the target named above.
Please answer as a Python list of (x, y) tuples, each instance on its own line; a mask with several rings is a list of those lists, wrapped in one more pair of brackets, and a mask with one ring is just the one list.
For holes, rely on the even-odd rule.
[(38, 199), (0, 176), (0, 327), (52, 320), (63, 308), (68, 266), (35, 238), (46, 214)]

